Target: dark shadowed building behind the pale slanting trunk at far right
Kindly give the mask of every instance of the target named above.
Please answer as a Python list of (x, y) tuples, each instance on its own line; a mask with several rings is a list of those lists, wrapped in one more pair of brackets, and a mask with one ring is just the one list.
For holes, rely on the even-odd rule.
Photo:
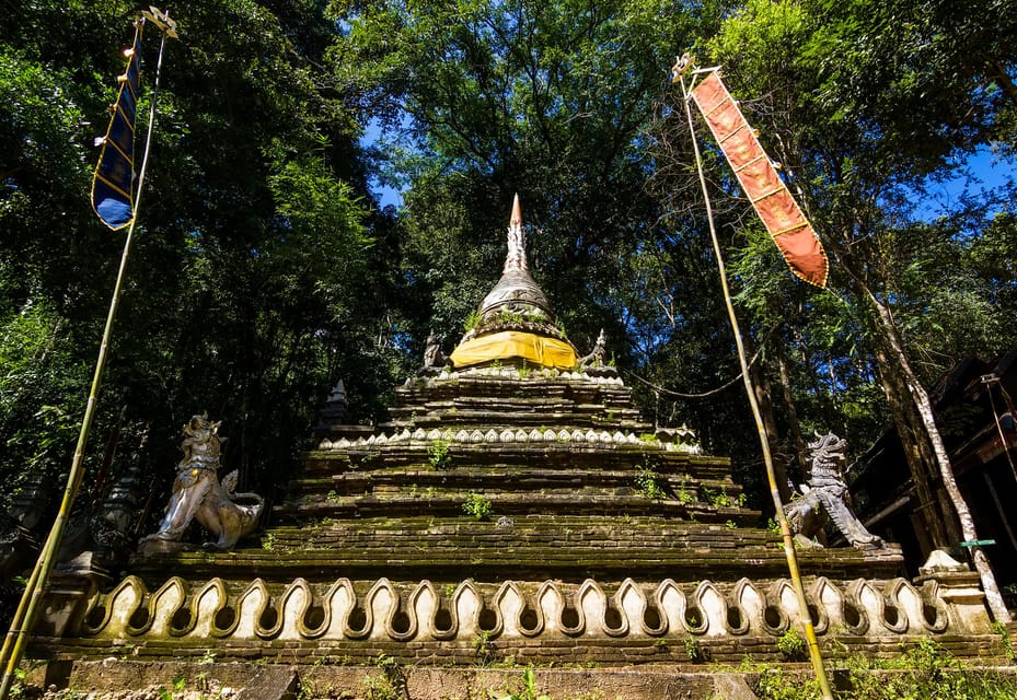
[[(1017, 607), (1017, 350), (967, 358), (932, 393), (958, 487), (1009, 607)], [(852, 469), (851, 489), (869, 529), (900, 542), (908, 571), (929, 553), (961, 553), (960, 523), (938, 472), (914, 474), (891, 425)]]

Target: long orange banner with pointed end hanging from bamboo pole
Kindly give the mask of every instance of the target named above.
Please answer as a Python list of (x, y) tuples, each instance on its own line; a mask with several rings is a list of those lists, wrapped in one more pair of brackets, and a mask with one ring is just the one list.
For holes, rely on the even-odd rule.
[(819, 236), (777, 175), (720, 74), (714, 71), (707, 75), (693, 89), (692, 97), (791, 272), (810, 284), (825, 287), (829, 262)]

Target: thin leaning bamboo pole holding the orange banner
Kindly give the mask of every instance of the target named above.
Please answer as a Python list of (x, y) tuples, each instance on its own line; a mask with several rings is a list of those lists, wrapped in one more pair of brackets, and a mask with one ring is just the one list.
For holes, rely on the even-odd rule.
[[(691, 66), (691, 61), (689, 63)], [(784, 514), (784, 503), (781, 500), (781, 492), (777, 489), (777, 479), (773, 465), (773, 456), (770, 452), (770, 440), (766, 436), (766, 430), (763, 428), (763, 417), (760, 411), (759, 401), (755, 398), (755, 390), (752, 386), (752, 378), (749, 376), (749, 363), (746, 359), (746, 349), (741, 340), (741, 329), (738, 325), (738, 318), (735, 315), (735, 305), (731, 301), (731, 292), (727, 283), (727, 271), (724, 266), (724, 257), (720, 254), (720, 243), (717, 240), (717, 230), (714, 225), (714, 212), (709, 201), (709, 191), (706, 188), (706, 175), (703, 173), (703, 158), (700, 154), (700, 144), (695, 138), (695, 126), (692, 119), (692, 108), (689, 106), (690, 95), (685, 90), (685, 77), (683, 71), (677, 70), (674, 80), (682, 89), (682, 104), (685, 107), (685, 117), (689, 120), (689, 132), (692, 137), (692, 149), (695, 153), (695, 166), (700, 175), (700, 187), (703, 190), (703, 201), (706, 206), (706, 219), (709, 223), (709, 237), (714, 246), (714, 255), (717, 258), (717, 269), (720, 272), (720, 289), (724, 292), (724, 304), (727, 307), (728, 319), (731, 323), (731, 330), (735, 334), (735, 347), (738, 349), (738, 362), (741, 365), (741, 377), (746, 387), (746, 395), (749, 397), (749, 406), (752, 408), (752, 416), (755, 418), (755, 431), (760, 439), (760, 447), (763, 451), (763, 462), (766, 465), (766, 480), (770, 485), (770, 494), (773, 498), (775, 517), (781, 526), (781, 534), (784, 538), (784, 555), (787, 558), (787, 569), (790, 572), (791, 584), (795, 588), (795, 595), (798, 598), (798, 623), (805, 630), (806, 642), (809, 649), (809, 660), (812, 663), (812, 670), (816, 674), (816, 680), (819, 682), (823, 700), (833, 700), (830, 690), (830, 681), (827, 678), (827, 669), (823, 666), (822, 653), (819, 650), (819, 641), (816, 639), (816, 630), (812, 627), (812, 619), (809, 615), (808, 602), (805, 597), (805, 588), (801, 585), (801, 574), (798, 570), (798, 557), (795, 553), (795, 542), (791, 538), (791, 530), (787, 524), (787, 516)]]

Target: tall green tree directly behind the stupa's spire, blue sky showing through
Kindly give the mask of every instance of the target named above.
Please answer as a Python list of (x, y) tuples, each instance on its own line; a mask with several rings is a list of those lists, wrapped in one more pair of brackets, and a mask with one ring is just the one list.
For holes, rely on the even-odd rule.
[(414, 319), (417, 342), (430, 317), (446, 337), (461, 332), (496, 279), (518, 191), (534, 276), (568, 332), (592, 345), (605, 327), (612, 350), (631, 357), (623, 290), (639, 270), (629, 260), (661, 234), (640, 129), (674, 46), (701, 20), (658, 0), (334, 2), (333, 12), (347, 27), (336, 74), (380, 115), (390, 135), (380, 165), (405, 187), (406, 276), (430, 300)]

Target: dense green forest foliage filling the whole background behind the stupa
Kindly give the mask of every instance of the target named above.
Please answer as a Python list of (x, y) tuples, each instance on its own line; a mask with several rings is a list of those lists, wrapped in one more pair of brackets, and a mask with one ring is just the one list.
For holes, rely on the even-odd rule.
[[(888, 334), (927, 385), (1017, 341), (1013, 185), (931, 199), (972, 155), (1013, 167), (1017, 7), (970, 4), (173, 8), (182, 38), (164, 60), (90, 500), (128, 465), (167, 486), (177, 427), (195, 412), (224, 421), (227, 465), (264, 493), (297, 468), (336, 380), (351, 420), (378, 418), (428, 331), (449, 350), (496, 280), (517, 191), (534, 277), (580, 351), (605, 328), (647, 416), (695, 428), (752, 485), (758, 445), (668, 81), (690, 47), (724, 63), (831, 255), (829, 291), (791, 278), (706, 149), (781, 460), (794, 475), (813, 429), (864, 450), (911, 410), (892, 390)], [(0, 16), (0, 479), (18, 485), (66, 471), (88, 395), (123, 241), (90, 211), (91, 143), (136, 8), (11, 8)], [(398, 188), (401, 206), (381, 208), (378, 184)]]

